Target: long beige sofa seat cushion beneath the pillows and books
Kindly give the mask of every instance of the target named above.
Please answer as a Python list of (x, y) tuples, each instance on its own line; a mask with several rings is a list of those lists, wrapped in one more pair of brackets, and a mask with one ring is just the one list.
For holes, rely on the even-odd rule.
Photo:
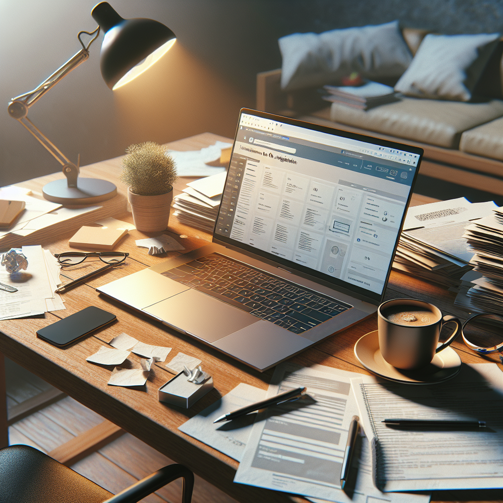
[(330, 109), (334, 122), (447, 148), (458, 148), (463, 131), (501, 116), (501, 100), (462, 103), (403, 98), (367, 111), (337, 103)]

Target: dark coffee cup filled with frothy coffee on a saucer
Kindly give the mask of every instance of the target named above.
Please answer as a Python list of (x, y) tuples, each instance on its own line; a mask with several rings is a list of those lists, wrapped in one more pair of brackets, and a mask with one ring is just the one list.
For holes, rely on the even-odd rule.
[[(456, 323), (451, 337), (437, 347), (445, 323)], [(402, 370), (426, 367), (436, 353), (458, 336), (461, 323), (455, 316), (442, 316), (437, 306), (415, 299), (392, 299), (377, 310), (379, 349), (390, 365)]]

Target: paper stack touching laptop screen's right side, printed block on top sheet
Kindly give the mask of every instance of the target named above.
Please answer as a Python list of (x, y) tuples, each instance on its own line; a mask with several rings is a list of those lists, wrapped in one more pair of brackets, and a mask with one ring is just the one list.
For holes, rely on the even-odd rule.
[(465, 227), (495, 208), (492, 201), (470, 203), (464, 197), (409, 208), (393, 269), (457, 291), (473, 269)]

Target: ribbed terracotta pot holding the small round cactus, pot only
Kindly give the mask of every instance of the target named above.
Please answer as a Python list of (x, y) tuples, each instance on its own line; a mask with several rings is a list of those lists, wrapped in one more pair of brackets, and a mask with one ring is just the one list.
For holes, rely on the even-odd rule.
[(127, 199), (133, 210), (134, 225), (143, 232), (157, 232), (167, 228), (173, 201), (173, 188), (158, 196), (140, 196), (127, 190)]

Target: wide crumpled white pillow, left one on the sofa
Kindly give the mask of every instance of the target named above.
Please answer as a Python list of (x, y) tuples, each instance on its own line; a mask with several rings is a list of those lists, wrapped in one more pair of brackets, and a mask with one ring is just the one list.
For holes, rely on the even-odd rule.
[(293, 33), (278, 40), (283, 56), (281, 88), (301, 89), (338, 83), (358, 72), (364, 78), (398, 78), (412, 55), (398, 21), (377, 26)]

